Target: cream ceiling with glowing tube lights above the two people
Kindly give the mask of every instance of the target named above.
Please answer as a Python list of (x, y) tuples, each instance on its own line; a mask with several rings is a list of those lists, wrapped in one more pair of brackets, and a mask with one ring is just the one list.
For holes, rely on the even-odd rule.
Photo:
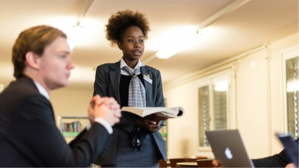
[[(14, 79), (11, 49), (21, 31), (37, 25), (66, 30), (76, 25), (84, 3), (0, 0), (0, 84), (7, 86)], [(124, 9), (138, 10), (149, 18), (151, 31), (141, 61), (159, 69), (164, 83), (298, 32), (298, 0), (95, 0), (80, 22), (83, 38), (73, 49), (76, 68), (70, 88), (92, 88), (93, 69), (119, 61), (122, 52), (109, 45), (104, 28), (111, 13)], [(196, 42), (179, 38), (202, 27)], [(169, 59), (155, 57), (173, 42), (187, 47)]]

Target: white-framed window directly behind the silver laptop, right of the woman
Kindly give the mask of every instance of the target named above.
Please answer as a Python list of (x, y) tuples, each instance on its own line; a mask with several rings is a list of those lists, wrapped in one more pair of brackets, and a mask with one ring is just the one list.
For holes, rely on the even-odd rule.
[(229, 71), (199, 81), (199, 147), (210, 146), (204, 131), (227, 129)]

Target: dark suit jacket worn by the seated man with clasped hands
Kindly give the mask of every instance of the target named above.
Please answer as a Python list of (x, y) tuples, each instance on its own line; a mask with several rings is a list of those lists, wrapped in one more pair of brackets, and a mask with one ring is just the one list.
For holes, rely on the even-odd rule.
[(26, 76), (0, 93), (0, 167), (87, 167), (109, 137), (94, 123), (67, 145), (50, 101)]

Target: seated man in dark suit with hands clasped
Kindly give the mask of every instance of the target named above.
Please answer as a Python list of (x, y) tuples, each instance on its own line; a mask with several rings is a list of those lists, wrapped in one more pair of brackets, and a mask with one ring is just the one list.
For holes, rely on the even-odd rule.
[(87, 167), (105, 149), (121, 110), (113, 98), (95, 95), (91, 127), (69, 145), (55, 124), (52, 90), (68, 85), (71, 50), (66, 35), (50, 26), (20, 33), (12, 50), (14, 77), (0, 94), (0, 167)]

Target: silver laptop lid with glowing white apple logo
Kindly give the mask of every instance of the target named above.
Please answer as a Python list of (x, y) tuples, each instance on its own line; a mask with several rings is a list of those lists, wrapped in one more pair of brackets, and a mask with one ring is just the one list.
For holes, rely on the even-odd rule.
[(205, 135), (222, 167), (254, 167), (238, 130), (205, 131)]

